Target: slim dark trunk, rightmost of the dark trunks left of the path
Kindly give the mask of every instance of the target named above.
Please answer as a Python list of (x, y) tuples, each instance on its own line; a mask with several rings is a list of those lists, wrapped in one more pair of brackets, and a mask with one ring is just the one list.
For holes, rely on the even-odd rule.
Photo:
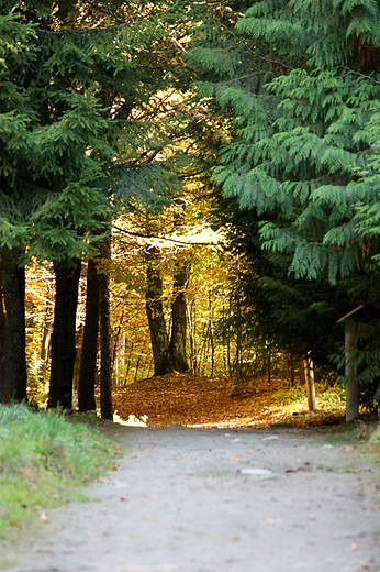
[[(100, 255), (102, 258), (111, 260), (111, 235), (104, 240)], [(101, 350), (100, 415), (103, 419), (113, 419), (110, 273), (108, 270), (99, 275), (99, 294)]]

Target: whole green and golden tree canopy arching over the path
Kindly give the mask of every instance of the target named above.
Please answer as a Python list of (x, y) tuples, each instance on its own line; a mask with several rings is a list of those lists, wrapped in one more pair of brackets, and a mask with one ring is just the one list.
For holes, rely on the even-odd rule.
[[(202, 186), (216, 198), (213, 220), (228, 249), (242, 257), (234, 286), (242, 297), (231, 311), (245, 321), (246, 338), (326, 362), (342, 334), (339, 318), (351, 322), (360, 308), (362, 363), (354, 377), (376, 383), (379, 21), (375, 0), (3, 3), (5, 353), (13, 351), (12, 323), (24, 328), (24, 264), (52, 261), (58, 292), (74, 268), (79, 280), (80, 260), (97, 255), (92, 246), (102, 252), (112, 218), (133, 213), (143, 233), (154, 235), (154, 224), (158, 234), (165, 227), (176, 234), (190, 212), (186, 193), (199, 197), (194, 187)], [(163, 217), (174, 198), (175, 215)], [(152, 266), (156, 248), (144, 258), (150, 283), (152, 273), (159, 282), (155, 293), (149, 278), (144, 286), (157, 302), (152, 316), (164, 296), (158, 251)], [(172, 267), (188, 273), (179, 261)], [(99, 272), (109, 267), (100, 262)], [(185, 292), (188, 277), (181, 280)], [(185, 355), (185, 299), (180, 314)], [(210, 311), (212, 349), (213, 320)], [(8, 393), (21, 374), (12, 375)], [(24, 382), (18, 395), (25, 395)]]

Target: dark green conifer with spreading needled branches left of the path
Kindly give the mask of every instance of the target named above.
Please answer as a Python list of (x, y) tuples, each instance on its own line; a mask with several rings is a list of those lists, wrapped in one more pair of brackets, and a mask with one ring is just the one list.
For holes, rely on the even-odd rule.
[[(22, 252), (27, 246), (29, 256), (66, 267), (57, 273), (57, 280), (64, 279), (89, 244), (99, 242), (111, 196), (113, 207), (138, 202), (143, 196), (152, 202), (174, 186), (174, 169), (156, 160), (170, 142), (169, 125), (156, 121), (160, 111), (150, 101), (170, 69), (177, 73), (178, 67), (164, 59), (163, 45), (169, 57), (178, 47), (171, 37), (172, 15), (168, 25), (160, 25), (163, 10), (167, 7), (158, 3), (142, 9), (118, 0), (99, 9), (75, 0), (2, 4), (3, 272), (8, 251), (13, 260), (13, 248)], [(18, 260), (16, 267), (24, 262)], [(71, 348), (74, 333), (71, 327)], [(54, 361), (62, 349), (58, 341)], [(70, 370), (63, 369), (67, 388)], [(51, 405), (68, 396), (67, 406), (70, 392), (54, 389), (57, 371), (62, 369), (52, 369)]]

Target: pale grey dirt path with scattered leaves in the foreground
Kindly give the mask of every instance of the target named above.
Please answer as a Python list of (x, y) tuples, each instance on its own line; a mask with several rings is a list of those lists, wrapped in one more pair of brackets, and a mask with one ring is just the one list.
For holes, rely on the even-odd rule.
[(121, 428), (91, 502), (48, 512), (9, 572), (378, 572), (378, 475), (293, 430)]

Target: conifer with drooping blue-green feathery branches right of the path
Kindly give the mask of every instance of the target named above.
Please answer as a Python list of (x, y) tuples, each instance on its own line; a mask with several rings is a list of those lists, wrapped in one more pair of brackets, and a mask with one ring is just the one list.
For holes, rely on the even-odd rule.
[[(264, 248), (289, 254), (297, 278), (338, 283), (351, 309), (364, 301), (372, 315), (379, 18), (372, 0), (264, 0), (230, 31), (224, 61), (209, 46), (193, 52), (216, 76), (201, 94), (233, 118), (233, 141), (214, 172), (223, 194), (256, 211)], [(361, 380), (379, 374), (371, 343)]]

